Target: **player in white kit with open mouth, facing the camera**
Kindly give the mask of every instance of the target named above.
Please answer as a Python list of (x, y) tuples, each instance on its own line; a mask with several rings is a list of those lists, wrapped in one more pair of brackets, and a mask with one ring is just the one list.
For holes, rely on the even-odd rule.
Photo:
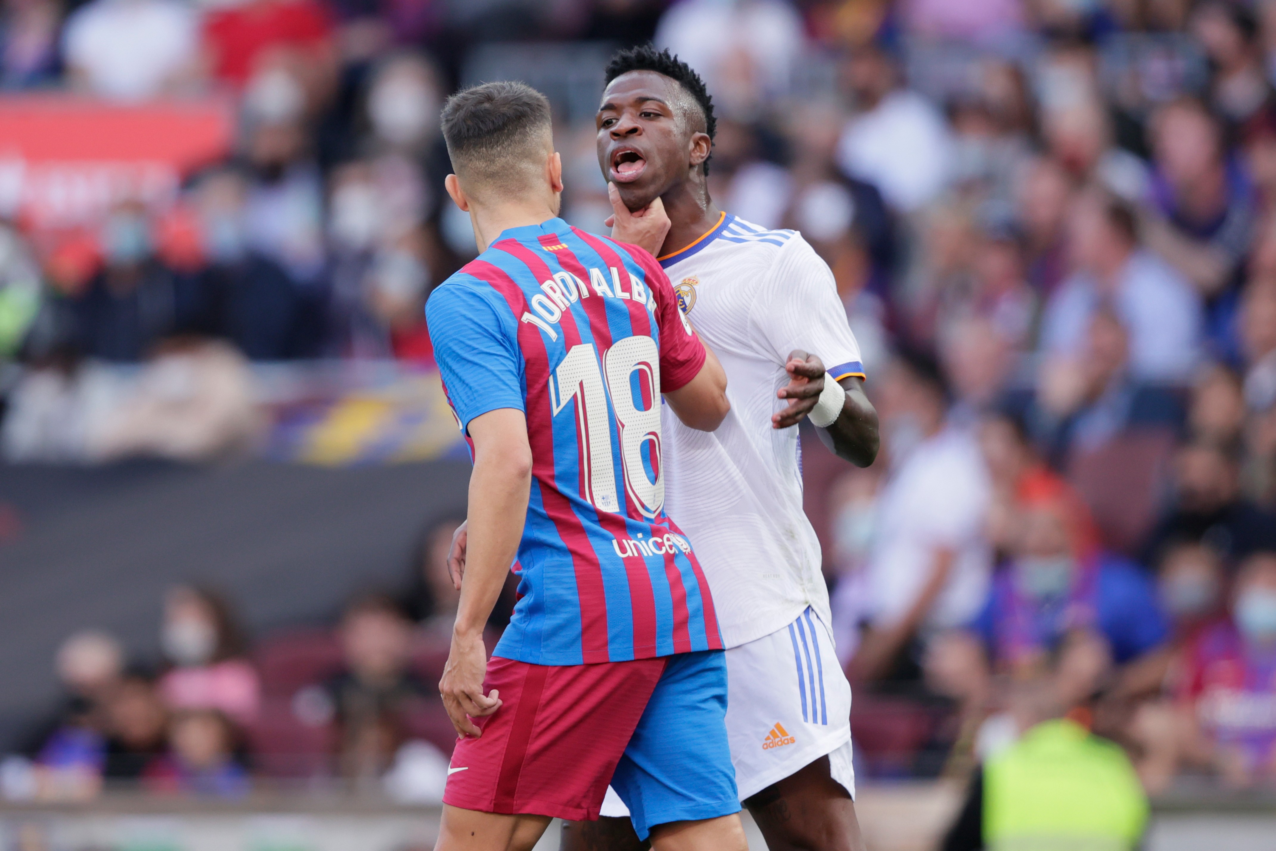
[[(695, 542), (727, 647), (740, 796), (771, 851), (859, 848), (851, 688), (803, 513), (795, 427), (809, 417), (838, 455), (873, 462), (877, 412), (859, 346), (832, 272), (800, 233), (741, 221), (709, 198), (713, 105), (695, 71), (637, 47), (605, 77), (597, 151), (615, 186), (612, 236), (658, 258), (729, 381), (731, 411), (712, 434), (665, 417), (664, 457), (667, 505)], [(658, 204), (667, 232), (649, 216)], [(609, 795), (602, 814), (624, 808)], [(619, 818), (564, 836), (574, 850), (638, 847)]]

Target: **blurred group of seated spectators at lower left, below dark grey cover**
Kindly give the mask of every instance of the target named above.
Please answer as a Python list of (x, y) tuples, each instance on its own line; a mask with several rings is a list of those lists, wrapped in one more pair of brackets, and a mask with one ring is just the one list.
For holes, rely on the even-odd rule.
[[(329, 782), (438, 803), (456, 740), (435, 685), (458, 592), (447, 572), (459, 519), (427, 523), (402, 587), (351, 600), (334, 624), (249, 642), (216, 589), (175, 586), (158, 657), (100, 629), (56, 656), (63, 698), (0, 762), (0, 796), (89, 800), (103, 788), (242, 797), (254, 783)], [(495, 638), (513, 588), (493, 615)]]

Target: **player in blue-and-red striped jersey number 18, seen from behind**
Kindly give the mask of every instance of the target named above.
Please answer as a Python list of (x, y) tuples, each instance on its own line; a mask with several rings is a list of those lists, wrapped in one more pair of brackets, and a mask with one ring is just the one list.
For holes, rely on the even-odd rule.
[[(664, 510), (661, 394), (715, 429), (722, 369), (651, 255), (558, 218), (542, 94), (466, 89), (443, 133), (480, 255), (426, 305), (475, 462), (436, 847), (531, 848), (553, 817), (597, 818), (610, 780), (656, 847), (746, 851), (713, 600)], [(512, 564), (521, 598), (489, 662)]]

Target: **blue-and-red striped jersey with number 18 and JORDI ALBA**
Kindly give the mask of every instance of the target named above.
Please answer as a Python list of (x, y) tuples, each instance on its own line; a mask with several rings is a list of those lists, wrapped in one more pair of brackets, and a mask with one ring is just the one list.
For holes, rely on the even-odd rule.
[(527, 416), (518, 605), (496, 656), (533, 665), (722, 647), (709, 588), (665, 514), (662, 392), (704, 347), (649, 255), (553, 218), (504, 231), (426, 305), (462, 433)]

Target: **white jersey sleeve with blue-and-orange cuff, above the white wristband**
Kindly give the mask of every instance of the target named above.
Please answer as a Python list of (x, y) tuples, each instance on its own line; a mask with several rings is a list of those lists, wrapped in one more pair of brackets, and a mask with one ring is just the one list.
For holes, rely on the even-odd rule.
[(759, 344), (777, 364), (800, 348), (818, 356), (836, 381), (864, 378), (860, 346), (846, 322), (833, 272), (801, 236), (780, 250), (750, 320), (760, 332)]

